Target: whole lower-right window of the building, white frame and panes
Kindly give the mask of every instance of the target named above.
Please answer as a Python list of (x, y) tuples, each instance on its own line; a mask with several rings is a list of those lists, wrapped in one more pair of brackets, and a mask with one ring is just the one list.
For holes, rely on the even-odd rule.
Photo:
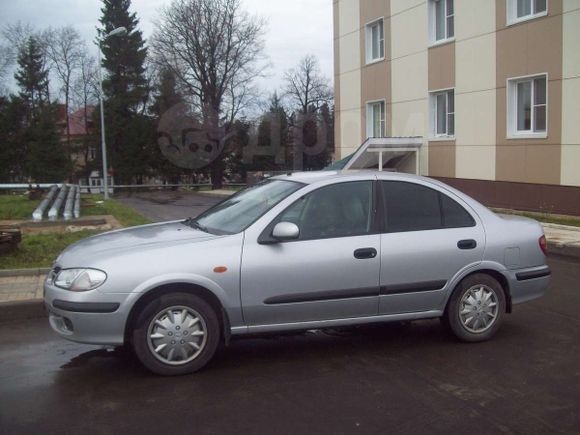
[(510, 135), (545, 135), (548, 120), (547, 77), (508, 81), (508, 131)]

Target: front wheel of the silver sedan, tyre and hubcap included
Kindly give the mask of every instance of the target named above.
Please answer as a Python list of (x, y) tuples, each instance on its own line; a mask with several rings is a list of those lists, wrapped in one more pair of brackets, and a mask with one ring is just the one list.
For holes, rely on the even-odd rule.
[(214, 356), (220, 342), (217, 313), (199, 296), (170, 293), (147, 304), (132, 331), (141, 363), (164, 376), (193, 373)]

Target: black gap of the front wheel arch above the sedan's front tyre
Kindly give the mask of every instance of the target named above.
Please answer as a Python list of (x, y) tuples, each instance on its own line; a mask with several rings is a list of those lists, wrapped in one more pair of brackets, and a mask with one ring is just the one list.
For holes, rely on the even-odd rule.
[(219, 297), (209, 290), (208, 288), (195, 284), (192, 282), (170, 282), (165, 284), (159, 284), (146, 292), (140, 294), (139, 298), (135, 301), (131, 307), (131, 311), (127, 316), (127, 321), (125, 322), (124, 330), (124, 342), (129, 343), (131, 340), (131, 331), (135, 326), (135, 322), (139, 316), (141, 310), (147, 306), (151, 301), (158, 299), (159, 297), (170, 294), (170, 293), (190, 293), (201, 297), (205, 302), (207, 302), (218, 316), (220, 323), (220, 334), (221, 340), (225, 344), (229, 343), (231, 330), (230, 330), (230, 319), (227, 311), (224, 308), (222, 301)]

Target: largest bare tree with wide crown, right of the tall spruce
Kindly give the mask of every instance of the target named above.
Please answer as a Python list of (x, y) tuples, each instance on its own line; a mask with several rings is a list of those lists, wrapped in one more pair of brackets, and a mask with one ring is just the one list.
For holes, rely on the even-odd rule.
[[(224, 120), (239, 111), (242, 95), (263, 71), (264, 24), (244, 12), (240, 0), (173, 0), (156, 24), (154, 57), (193, 97), (216, 148), (225, 135)], [(224, 113), (229, 116), (221, 118)], [(219, 188), (221, 151), (210, 169), (212, 185)]]

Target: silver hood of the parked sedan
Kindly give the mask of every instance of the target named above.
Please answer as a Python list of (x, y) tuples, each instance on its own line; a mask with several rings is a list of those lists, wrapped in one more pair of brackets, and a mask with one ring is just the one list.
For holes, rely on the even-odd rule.
[(80, 240), (66, 248), (57, 258), (60, 267), (89, 266), (92, 259), (106, 255), (111, 257), (127, 250), (150, 249), (175, 243), (202, 242), (221, 236), (209, 234), (183, 221), (163, 222), (151, 225), (109, 231)]

